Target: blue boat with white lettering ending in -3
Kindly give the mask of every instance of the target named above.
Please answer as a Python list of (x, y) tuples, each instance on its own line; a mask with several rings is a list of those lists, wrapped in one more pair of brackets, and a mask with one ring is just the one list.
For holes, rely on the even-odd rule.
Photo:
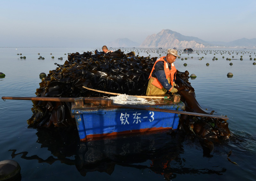
[[(71, 113), (75, 116), (81, 141), (176, 130), (180, 114), (160, 112), (158, 109), (183, 111), (185, 104), (173, 103), (170, 99), (155, 100), (155, 103), (155, 105), (137, 104), (131, 108), (127, 108), (126, 105), (110, 107), (84, 103), (81, 98), (72, 103)], [(151, 110), (143, 110), (143, 108)]]

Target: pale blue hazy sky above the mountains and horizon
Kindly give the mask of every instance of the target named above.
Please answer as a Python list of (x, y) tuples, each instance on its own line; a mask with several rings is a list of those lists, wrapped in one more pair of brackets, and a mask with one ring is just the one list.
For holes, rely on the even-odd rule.
[(142, 43), (170, 29), (205, 41), (256, 38), (255, 0), (4, 0), (0, 47), (97, 47)]

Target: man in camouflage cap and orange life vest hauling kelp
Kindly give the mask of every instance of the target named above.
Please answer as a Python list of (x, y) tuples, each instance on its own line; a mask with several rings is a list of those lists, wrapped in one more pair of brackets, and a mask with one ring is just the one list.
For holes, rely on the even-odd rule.
[(168, 49), (166, 57), (161, 57), (156, 60), (152, 71), (148, 77), (147, 96), (165, 94), (167, 91), (175, 93), (178, 90), (173, 86), (176, 68), (173, 64), (175, 59), (180, 57), (178, 51), (174, 49)]

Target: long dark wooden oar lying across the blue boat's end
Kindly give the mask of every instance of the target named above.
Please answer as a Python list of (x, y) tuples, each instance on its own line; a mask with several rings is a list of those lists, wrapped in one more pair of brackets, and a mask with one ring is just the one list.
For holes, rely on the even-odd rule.
[[(76, 98), (50, 98), (50, 97), (2, 97), (2, 99), (15, 99), (15, 100), (35, 100), (35, 101), (57, 101), (57, 102), (75, 102)], [(122, 104), (114, 104), (111, 99), (99, 98), (99, 97), (89, 97), (83, 98), (84, 103), (93, 103), (94, 105), (101, 106), (109, 106), (109, 107), (118, 107), (118, 108), (128, 108), (128, 109), (141, 109), (141, 110), (149, 110), (149, 111), (159, 111), (159, 112), (167, 112), (167, 113), (176, 113), (176, 114), (186, 114), (193, 116), (202, 116), (202, 117), (212, 117), (212, 118), (220, 118), (224, 120), (228, 120), (228, 117), (212, 115), (212, 114), (201, 114), (201, 113), (192, 113), (186, 111), (177, 111), (170, 109), (161, 109), (154, 107), (145, 107), (141, 105), (122, 105)]]

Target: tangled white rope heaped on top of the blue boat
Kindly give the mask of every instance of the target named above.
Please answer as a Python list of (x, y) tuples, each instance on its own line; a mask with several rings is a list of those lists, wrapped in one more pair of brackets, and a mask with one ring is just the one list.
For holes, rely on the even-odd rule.
[[(118, 96), (111, 96), (109, 99), (112, 99), (116, 104), (156, 104), (154, 101), (148, 101), (145, 98), (137, 98), (135, 96), (129, 96), (126, 94), (120, 94)], [(157, 99), (158, 100), (158, 99)]]

